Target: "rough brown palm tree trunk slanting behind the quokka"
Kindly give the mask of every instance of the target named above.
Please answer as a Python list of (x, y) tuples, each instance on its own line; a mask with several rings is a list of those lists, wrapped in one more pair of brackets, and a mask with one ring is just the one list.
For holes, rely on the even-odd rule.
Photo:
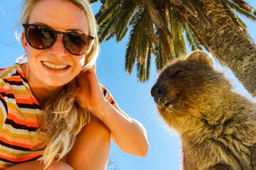
[(255, 44), (245, 30), (233, 22), (223, 6), (217, 6), (213, 0), (193, 1), (210, 18), (211, 25), (207, 27), (184, 7), (180, 8), (180, 14), (206, 49), (227, 65), (245, 89), (256, 97)]

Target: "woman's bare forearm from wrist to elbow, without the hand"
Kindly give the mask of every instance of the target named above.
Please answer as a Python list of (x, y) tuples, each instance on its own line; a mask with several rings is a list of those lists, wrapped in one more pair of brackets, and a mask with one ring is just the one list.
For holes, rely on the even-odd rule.
[(109, 102), (105, 102), (105, 105), (95, 111), (95, 115), (110, 128), (112, 139), (124, 152), (139, 157), (146, 156), (149, 142), (141, 123), (129, 118), (121, 110), (118, 111)]

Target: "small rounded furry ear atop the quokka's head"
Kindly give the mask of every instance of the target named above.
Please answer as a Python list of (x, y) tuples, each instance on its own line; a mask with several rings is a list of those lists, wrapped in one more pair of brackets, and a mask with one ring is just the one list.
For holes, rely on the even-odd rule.
[(213, 67), (213, 59), (206, 54), (206, 52), (197, 50), (194, 52), (191, 52), (190, 55), (188, 55), (187, 60), (193, 60), (193, 61), (198, 61), (198, 62), (204, 62), (211, 67)]

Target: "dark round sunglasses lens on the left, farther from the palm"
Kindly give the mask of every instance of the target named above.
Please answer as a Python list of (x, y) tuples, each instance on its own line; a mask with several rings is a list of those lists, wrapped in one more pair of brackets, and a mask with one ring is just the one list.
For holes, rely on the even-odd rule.
[(55, 35), (44, 26), (29, 26), (26, 31), (28, 43), (37, 49), (46, 49), (53, 45)]

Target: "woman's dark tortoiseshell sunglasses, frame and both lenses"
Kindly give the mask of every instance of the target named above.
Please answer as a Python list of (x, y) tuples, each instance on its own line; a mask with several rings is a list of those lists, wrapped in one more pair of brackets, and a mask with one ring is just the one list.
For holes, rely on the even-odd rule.
[(31, 47), (44, 50), (52, 46), (57, 35), (63, 35), (63, 45), (72, 55), (84, 55), (90, 49), (94, 37), (75, 31), (61, 32), (40, 24), (23, 23), (26, 40)]

